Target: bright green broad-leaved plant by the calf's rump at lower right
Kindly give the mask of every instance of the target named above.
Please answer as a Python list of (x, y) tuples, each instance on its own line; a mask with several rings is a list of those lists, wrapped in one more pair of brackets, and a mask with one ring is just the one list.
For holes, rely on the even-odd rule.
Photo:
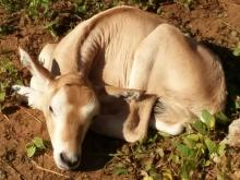
[(193, 132), (181, 135), (182, 142), (175, 143), (177, 156), (180, 157), (180, 176), (184, 180), (190, 179), (196, 168), (204, 169), (213, 163), (219, 163), (219, 158), (225, 154), (226, 145), (211, 140), (216, 124), (215, 116), (203, 110), (202, 119), (203, 122), (191, 124)]

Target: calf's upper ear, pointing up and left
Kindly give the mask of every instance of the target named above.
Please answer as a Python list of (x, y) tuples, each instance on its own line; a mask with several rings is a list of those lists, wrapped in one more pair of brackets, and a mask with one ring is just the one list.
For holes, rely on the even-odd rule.
[(49, 82), (53, 80), (53, 75), (48, 71), (46, 68), (44, 68), (39, 61), (36, 61), (29, 57), (29, 55), (23, 50), (22, 48), (19, 48), (20, 50), (20, 60), (24, 67), (26, 67), (33, 76), (36, 76), (40, 81)]

